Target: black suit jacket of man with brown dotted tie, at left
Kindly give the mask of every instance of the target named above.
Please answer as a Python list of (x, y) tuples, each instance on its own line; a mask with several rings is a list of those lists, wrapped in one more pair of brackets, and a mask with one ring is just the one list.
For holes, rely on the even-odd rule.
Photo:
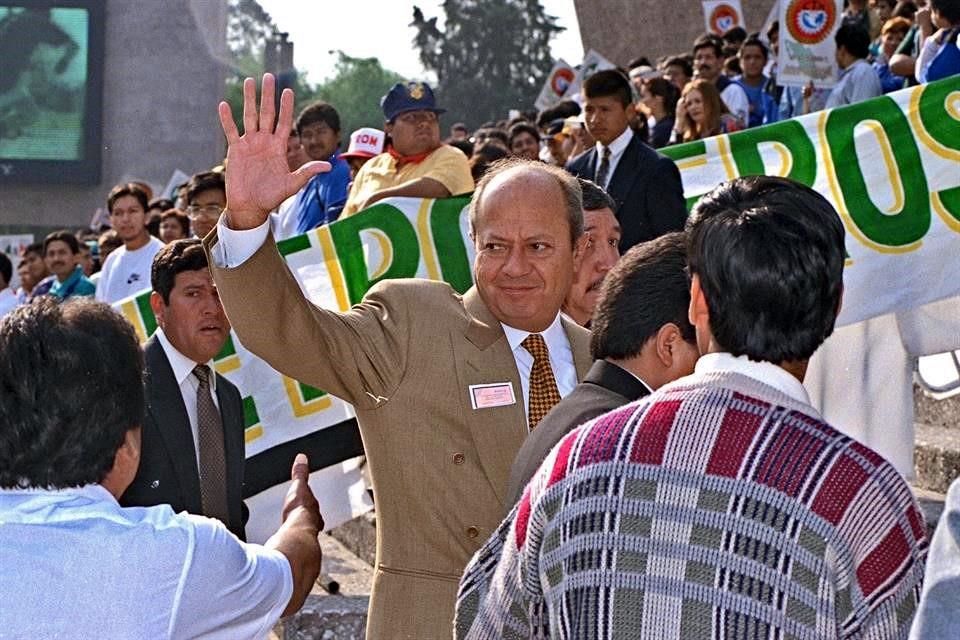
[[(144, 359), (147, 365), (147, 411), (141, 438), (140, 468), (133, 483), (121, 496), (120, 504), (144, 507), (169, 504), (176, 512), (202, 515), (200, 475), (190, 419), (170, 361), (156, 337), (150, 338), (144, 346)], [(220, 374), (217, 374), (217, 402), (223, 418), (227, 457), (230, 519), (224, 524), (243, 540), (247, 517), (243, 504), (246, 455), (243, 403), (237, 388)]]

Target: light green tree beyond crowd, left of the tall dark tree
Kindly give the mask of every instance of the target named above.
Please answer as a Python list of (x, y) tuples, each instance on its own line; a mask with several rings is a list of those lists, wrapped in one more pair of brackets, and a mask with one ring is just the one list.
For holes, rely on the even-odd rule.
[[(343, 146), (350, 133), (360, 127), (383, 128), (380, 98), (404, 78), (384, 69), (376, 58), (353, 58), (337, 52), (334, 76), (317, 85), (311, 98), (326, 100), (340, 114)], [(297, 107), (306, 105), (297, 95)]]

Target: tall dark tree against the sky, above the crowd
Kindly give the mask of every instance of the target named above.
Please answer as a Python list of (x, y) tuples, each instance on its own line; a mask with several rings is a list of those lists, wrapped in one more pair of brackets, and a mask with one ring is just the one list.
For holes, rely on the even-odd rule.
[(563, 30), (540, 0), (444, 0), (442, 8), (442, 31), (419, 7), (411, 26), (451, 115), (476, 126), (532, 108), (553, 66), (550, 39)]

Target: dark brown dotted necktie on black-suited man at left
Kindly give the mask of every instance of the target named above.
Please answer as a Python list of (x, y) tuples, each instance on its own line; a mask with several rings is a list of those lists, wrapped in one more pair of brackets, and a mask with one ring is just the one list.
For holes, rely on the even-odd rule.
[(227, 458), (223, 445), (223, 420), (210, 395), (210, 368), (199, 364), (193, 375), (197, 388), (197, 447), (200, 450), (200, 501), (203, 515), (229, 521), (227, 511)]

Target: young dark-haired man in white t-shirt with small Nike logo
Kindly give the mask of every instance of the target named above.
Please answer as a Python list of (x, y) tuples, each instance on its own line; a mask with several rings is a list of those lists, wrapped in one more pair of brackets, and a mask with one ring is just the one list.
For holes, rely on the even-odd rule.
[(147, 202), (147, 192), (132, 182), (110, 190), (110, 225), (123, 246), (110, 253), (100, 270), (97, 300), (112, 304), (150, 288), (150, 265), (163, 243), (147, 231)]

